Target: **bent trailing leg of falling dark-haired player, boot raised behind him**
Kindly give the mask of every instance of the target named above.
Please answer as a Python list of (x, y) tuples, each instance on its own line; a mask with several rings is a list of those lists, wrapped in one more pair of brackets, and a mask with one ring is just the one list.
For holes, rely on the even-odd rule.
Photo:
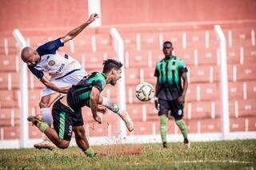
[[(70, 141), (69, 140), (59, 140), (58, 134), (54, 128), (50, 128), (46, 122), (42, 121), (41, 117), (29, 116), (28, 121), (31, 121), (33, 125), (36, 125), (38, 129), (45, 133), (46, 136), (52, 141), (58, 148), (68, 148)], [(50, 148), (49, 148), (50, 149)], [(50, 150), (52, 150), (51, 148)]]

